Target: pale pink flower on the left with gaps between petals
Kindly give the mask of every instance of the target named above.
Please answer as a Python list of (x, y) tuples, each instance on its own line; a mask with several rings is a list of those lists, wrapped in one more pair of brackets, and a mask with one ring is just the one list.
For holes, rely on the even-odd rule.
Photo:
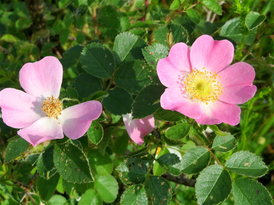
[(26, 63), (19, 72), (20, 91), (6, 88), (0, 92), (0, 106), (4, 122), (21, 128), (17, 134), (33, 146), (64, 137), (83, 136), (92, 120), (102, 112), (98, 101), (87, 101), (62, 109), (59, 94), (63, 67), (59, 60), (47, 56), (35, 63)]

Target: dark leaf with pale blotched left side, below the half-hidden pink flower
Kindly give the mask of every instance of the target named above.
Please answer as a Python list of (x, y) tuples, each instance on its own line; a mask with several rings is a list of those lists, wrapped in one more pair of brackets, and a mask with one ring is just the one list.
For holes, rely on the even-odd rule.
[(148, 175), (146, 164), (137, 157), (127, 158), (116, 168), (116, 171), (122, 183), (126, 185), (143, 183)]

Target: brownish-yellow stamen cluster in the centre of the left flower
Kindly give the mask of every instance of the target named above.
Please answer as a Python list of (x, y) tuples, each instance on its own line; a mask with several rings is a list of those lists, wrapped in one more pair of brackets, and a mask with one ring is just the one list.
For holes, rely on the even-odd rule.
[(62, 103), (59, 98), (55, 99), (53, 95), (47, 97), (42, 103), (42, 110), (47, 114), (48, 117), (57, 118), (62, 112)]

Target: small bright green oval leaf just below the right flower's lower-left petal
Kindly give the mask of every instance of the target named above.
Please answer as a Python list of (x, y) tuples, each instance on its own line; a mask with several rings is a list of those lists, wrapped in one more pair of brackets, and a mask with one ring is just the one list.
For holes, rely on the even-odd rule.
[(188, 135), (189, 130), (190, 124), (188, 122), (184, 122), (170, 127), (166, 131), (166, 137), (170, 140), (180, 140)]

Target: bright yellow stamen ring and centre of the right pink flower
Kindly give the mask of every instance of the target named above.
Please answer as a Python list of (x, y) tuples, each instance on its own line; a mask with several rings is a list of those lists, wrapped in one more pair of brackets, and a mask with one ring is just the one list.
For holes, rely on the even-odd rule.
[(212, 74), (206, 70), (192, 70), (192, 73), (188, 74), (184, 81), (185, 90), (192, 95), (191, 99), (199, 99), (206, 104), (209, 101), (214, 103), (223, 92), (222, 85), (217, 80), (221, 76), (217, 76), (216, 71)]

